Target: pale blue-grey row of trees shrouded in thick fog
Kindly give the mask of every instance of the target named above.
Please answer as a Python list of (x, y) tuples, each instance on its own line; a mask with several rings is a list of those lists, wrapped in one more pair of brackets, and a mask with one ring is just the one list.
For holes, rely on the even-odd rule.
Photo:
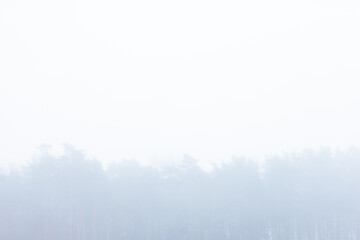
[(0, 176), (0, 239), (360, 239), (360, 149), (304, 150), (212, 172), (135, 161), (104, 170), (71, 147)]

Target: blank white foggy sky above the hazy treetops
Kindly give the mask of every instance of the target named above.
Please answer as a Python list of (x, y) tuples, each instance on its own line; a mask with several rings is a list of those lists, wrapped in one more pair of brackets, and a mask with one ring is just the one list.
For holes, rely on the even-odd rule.
[(360, 145), (359, 29), (359, 1), (2, 0), (0, 166)]

